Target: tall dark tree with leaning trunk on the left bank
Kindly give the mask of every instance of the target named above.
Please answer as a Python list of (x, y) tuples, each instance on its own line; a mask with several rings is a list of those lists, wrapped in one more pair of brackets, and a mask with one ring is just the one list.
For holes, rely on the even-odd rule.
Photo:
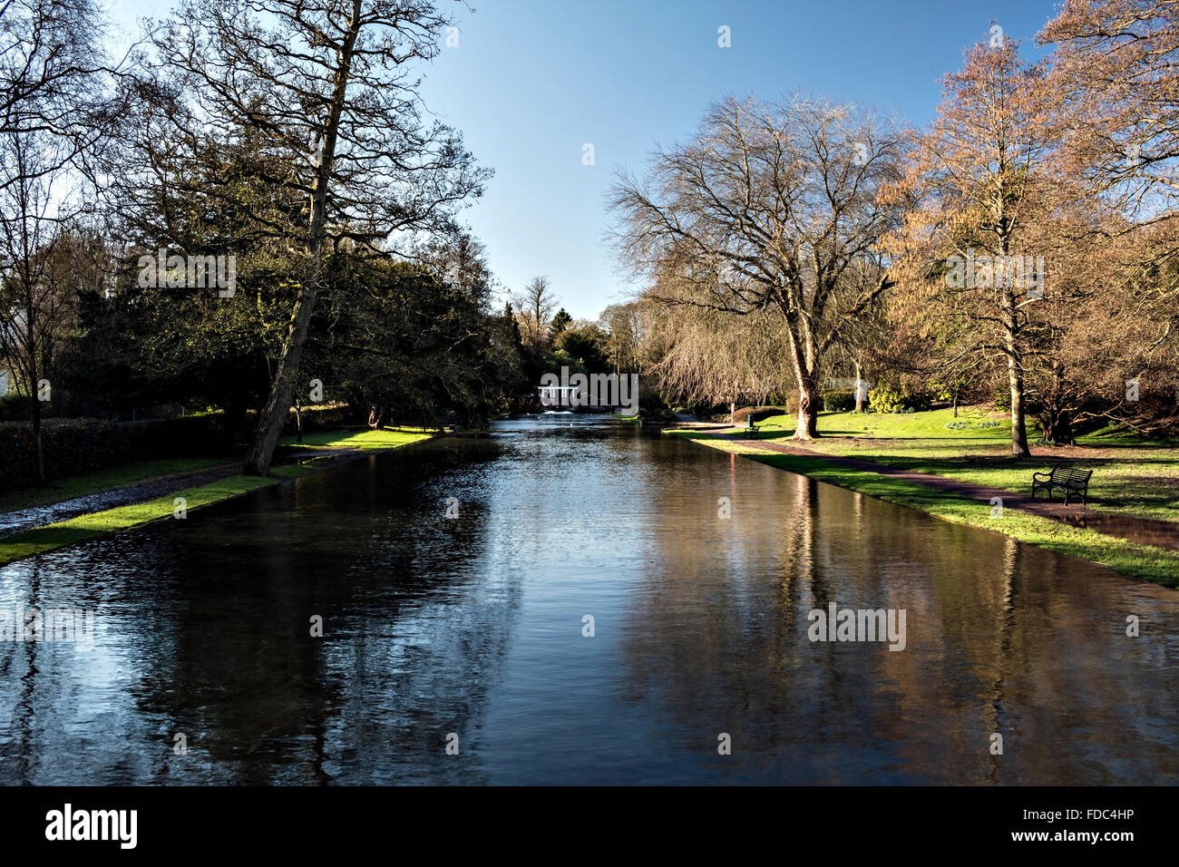
[(427, 119), (419, 96), (417, 65), (448, 24), (430, 0), (192, 0), (154, 35), (163, 90), (191, 97), (177, 123), (203, 127), (180, 132), (244, 127), (282, 157), (266, 183), (307, 202), (301, 226), (270, 226), (302, 276), (246, 473), (269, 472), (325, 254), (450, 234), (454, 211), (482, 192), (488, 172), (456, 132)]

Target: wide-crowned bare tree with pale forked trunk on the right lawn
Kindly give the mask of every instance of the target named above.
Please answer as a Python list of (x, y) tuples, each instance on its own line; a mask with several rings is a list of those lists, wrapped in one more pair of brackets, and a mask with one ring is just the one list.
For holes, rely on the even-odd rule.
[[(871, 114), (795, 98), (727, 99), (696, 138), (659, 150), (611, 203), (619, 248), (654, 295), (732, 315), (777, 309), (798, 386), (797, 439), (818, 435), (823, 359), (890, 285), (849, 280), (896, 219), (881, 198), (900, 138)], [(663, 288), (670, 288), (665, 293)]]

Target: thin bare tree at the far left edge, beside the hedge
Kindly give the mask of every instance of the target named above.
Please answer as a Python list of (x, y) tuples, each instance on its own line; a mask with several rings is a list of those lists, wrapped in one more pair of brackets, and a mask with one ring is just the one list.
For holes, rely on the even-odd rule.
[(55, 248), (93, 202), (83, 195), (86, 157), (117, 113), (101, 33), (90, 0), (0, 6), (0, 361), (28, 396), (42, 484), (42, 405), (52, 398), (44, 376), (70, 308)]

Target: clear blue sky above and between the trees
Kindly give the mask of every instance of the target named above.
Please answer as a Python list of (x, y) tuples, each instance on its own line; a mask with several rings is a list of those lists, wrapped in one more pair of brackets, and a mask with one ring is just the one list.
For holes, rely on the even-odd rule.
[[(457, 47), (424, 71), (432, 111), (463, 131), (495, 170), (463, 214), (496, 277), (519, 290), (548, 276), (575, 317), (597, 317), (638, 289), (604, 234), (617, 168), (692, 133), (729, 93), (802, 91), (927, 121), (941, 77), (994, 20), (1025, 41), (1054, 0), (439, 0), (459, 19)], [(162, 18), (166, 0), (111, 0), (124, 27)], [(717, 44), (718, 27), (731, 47)], [(582, 145), (594, 165), (582, 164)]]

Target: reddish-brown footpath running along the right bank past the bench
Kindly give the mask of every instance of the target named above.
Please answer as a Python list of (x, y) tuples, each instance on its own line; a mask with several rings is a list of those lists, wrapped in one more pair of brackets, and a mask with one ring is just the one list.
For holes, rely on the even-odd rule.
[(819, 460), (825, 460), (829, 464), (835, 464), (836, 466), (848, 467), (849, 469), (861, 469), (868, 473), (878, 473), (880, 475), (888, 475), (894, 479), (910, 481), (914, 485), (923, 485), (926, 487), (934, 488), (935, 491), (944, 491), (946, 493), (955, 497), (979, 500), (980, 503), (987, 505), (990, 504), (990, 499), (993, 497), (999, 497), (1003, 501), (1003, 508), (1017, 508), (1021, 512), (1028, 512), (1029, 514), (1055, 518), (1056, 520), (1062, 520), (1074, 526), (1087, 527), (1095, 532), (1104, 533), (1105, 536), (1128, 539), (1129, 541), (1137, 541), (1144, 545), (1157, 545), (1159, 547), (1167, 549), (1179, 547), (1179, 524), (1162, 520), (1150, 520), (1147, 518), (1134, 518), (1132, 515), (1112, 514), (1108, 512), (1094, 512), (1087, 506), (1076, 503), (1066, 506), (1063, 503), (1059, 501), (1033, 499), (1030, 475), (1028, 477), (1027, 493), (1017, 493), (1014, 491), (1003, 491), (996, 487), (986, 487), (984, 485), (971, 485), (966, 481), (955, 481), (954, 479), (947, 479), (944, 475), (934, 475), (933, 473), (918, 473), (913, 469), (889, 467), (883, 464), (876, 464), (859, 458), (845, 458), (837, 454), (825, 454), (823, 452), (816, 452), (801, 446), (785, 445), (783, 442), (750, 440), (737, 434), (710, 435), (738, 442), (743, 446), (762, 448), (768, 452), (780, 452), (783, 454), (793, 454), (803, 458), (818, 458)]

